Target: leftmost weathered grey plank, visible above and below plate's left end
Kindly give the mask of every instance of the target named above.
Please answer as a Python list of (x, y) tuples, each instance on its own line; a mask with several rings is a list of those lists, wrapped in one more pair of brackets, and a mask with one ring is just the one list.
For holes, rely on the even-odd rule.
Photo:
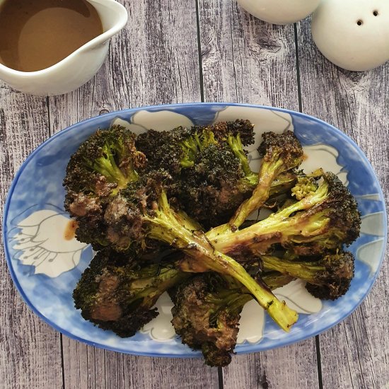
[[(45, 98), (11, 91), (0, 83), (0, 220), (16, 170), (47, 138), (48, 129)], [(22, 301), (11, 281), (2, 249), (0, 306), (0, 387), (61, 388), (59, 334)]]

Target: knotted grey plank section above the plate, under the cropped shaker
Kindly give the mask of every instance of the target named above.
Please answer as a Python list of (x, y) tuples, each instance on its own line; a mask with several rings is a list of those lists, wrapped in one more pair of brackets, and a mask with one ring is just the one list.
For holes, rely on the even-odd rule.
[(199, 1), (204, 100), (298, 110), (293, 25), (263, 23), (235, 0)]

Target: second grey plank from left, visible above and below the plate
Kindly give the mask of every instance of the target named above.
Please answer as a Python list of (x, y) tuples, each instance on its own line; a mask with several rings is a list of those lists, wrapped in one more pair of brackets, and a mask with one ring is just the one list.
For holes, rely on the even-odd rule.
[[(200, 100), (196, 8), (192, 0), (122, 1), (126, 28), (110, 57), (79, 91), (50, 98), (52, 132), (101, 110)], [(107, 352), (63, 337), (65, 388), (216, 388), (204, 362)]]

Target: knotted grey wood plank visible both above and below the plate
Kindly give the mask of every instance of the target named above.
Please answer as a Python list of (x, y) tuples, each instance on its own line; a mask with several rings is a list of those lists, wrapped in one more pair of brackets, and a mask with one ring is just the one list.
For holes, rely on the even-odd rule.
[[(252, 18), (236, 1), (199, 2), (205, 101), (298, 110), (294, 28)], [(317, 388), (315, 339), (235, 356), (224, 388)]]

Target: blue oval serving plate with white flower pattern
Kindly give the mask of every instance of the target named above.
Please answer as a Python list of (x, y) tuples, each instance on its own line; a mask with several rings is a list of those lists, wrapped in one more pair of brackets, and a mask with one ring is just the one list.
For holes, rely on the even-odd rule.
[(339, 323), (359, 306), (378, 276), (386, 245), (383, 194), (364, 153), (335, 127), (298, 112), (256, 105), (192, 103), (160, 105), (111, 112), (74, 124), (45, 141), (16, 174), (4, 209), (4, 249), (14, 283), (37, 315), (69, 337), (93, 346), (149, 356), (199, 356), (181, 344), (170, 324), (171, 301), (163, 295), (160, 315), (134, 337), (122, 339), (83, 320), (71, 297), (76, 282), (93, 252), (68, 236), (69, 216), (64, 211), (62, 180), (69, 157), (98, 128), (122, 124), (134, 132), (178, 125), (210, 124), (249, 119), (255, 124), (256, 142), (250, 146), (250, 163), (257, 170), (257, 146), (265, 131), (294, 131), (303, 144), (306, 172), (323, 167), (336, 173), (349, 187), (362, 214), (361, 236), (350, 246), (356, 257), (355, 277), (349, 292), (337, 301), (320, 301), (293, 281), (275, 294), (298, 310), (299, 320), (286, 333), (254, 301), (240, 320), (236, 352), (258, 352), (317, 335)]

